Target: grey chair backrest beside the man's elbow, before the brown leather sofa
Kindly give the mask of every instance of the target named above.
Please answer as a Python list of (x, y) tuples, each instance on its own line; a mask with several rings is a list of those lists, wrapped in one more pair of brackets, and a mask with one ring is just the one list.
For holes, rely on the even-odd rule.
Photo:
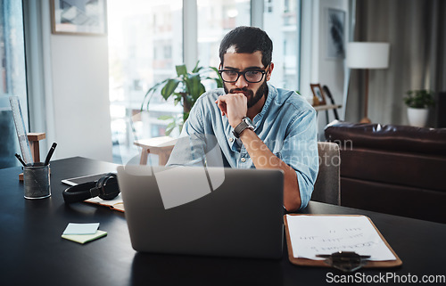
[(341, 156), (336, 143), (318, 142), (319, 173), (311, 200), (341, 205)]

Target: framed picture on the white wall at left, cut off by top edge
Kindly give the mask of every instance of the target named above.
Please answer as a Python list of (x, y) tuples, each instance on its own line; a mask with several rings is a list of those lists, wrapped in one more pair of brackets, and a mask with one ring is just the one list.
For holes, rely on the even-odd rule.
[(50, 0), (51, 32), (64, 35), (105, 35), (106, 0)]

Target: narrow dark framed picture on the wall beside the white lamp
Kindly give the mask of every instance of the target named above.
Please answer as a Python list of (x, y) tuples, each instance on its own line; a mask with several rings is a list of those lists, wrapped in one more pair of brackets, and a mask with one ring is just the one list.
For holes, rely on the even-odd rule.
[(345, 11), (326, 9), (326, 57), (343, 59), (345, 57)]

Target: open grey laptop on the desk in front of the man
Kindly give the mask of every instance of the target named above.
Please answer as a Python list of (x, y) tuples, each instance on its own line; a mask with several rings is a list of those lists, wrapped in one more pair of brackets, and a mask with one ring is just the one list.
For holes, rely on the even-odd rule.
[(136, 251), (283, 256), (281, 170), (120, 166), (118, 182)]

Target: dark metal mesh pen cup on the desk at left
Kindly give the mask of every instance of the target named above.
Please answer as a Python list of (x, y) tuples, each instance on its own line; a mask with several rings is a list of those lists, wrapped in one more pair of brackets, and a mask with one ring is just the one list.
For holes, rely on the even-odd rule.
[(43, 163), (23, 167), (25, 199), (45, 199), (51, 196), (49, 169), (50, 166)]

